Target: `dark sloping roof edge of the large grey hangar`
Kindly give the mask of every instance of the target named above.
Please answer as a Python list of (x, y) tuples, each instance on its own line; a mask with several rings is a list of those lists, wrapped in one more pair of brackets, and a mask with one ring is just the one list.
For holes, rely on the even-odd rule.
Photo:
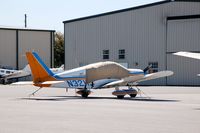
[(85, 20), (85, 19), (90, 19), (90, 18), (95, 18), (95, 17), (101, 17), (101, 16), (111, 15), (111, 14), (120, 13), (120, 12), (126, 12), (126, 11), (130, 11), (130, 10), (136, 10), (136, 9), (140, 9), (140, 8), (160, 5), (160, 4), (169, 3), (169, 2), (200, 2), (200, 0), (164, 0), (164, 1), (159, 1), (159, 2), (150, 3), (150, 4), (146, 4), (146, 5), (131, 7), (131, 8), (127, 8), (127, 9), (122, 9), (122, 10), (117, 10), (117, 11), (112, 11), (112, 12), (107, 12), (107, 13), (87, 16), (87, 17), (83, 17), (83, 18), (66, 20), (66, 21), (63, 21), (63, 23), (64, 24), (65, 23), (71, 23), (71, 22), (75, 22), (75, 21), (80, 21), (80, 20)]

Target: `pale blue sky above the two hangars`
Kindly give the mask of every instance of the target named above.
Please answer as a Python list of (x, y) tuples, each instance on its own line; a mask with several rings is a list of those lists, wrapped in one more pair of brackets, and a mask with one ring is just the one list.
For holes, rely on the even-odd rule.
[(162, 0), (0, 0), (0, 27), (51, 29), (63, 32), (63, 21), (154, 3)]

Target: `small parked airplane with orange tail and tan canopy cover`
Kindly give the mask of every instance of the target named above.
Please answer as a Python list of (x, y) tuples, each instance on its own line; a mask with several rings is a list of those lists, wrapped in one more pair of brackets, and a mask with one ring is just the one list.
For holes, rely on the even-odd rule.
[[(54, 74), (36, 52), (27, 52), (26, 57), (32, 71), (33, 82), (18, 82), (14, 84), (32, 84), (39, 87), (31, 95), (34, 95), (43, 87), (56, 87), (78, 89), (76, 93), (83, 98), (87, 98), (91, 94), (91, 89), (115, 87), (115, 91), (112, 94), (117, 98), (123, 99), (125, 95), (134, 98), (139, 90), (132, 88), (132, 86), (136, 86), (141, 81), (173, 75), (172, 71), (147, 74), (149, 67), (144, 70), (127, 69), (112, 61), (97, 62)], [(120, 90), (120, 86), (128, 86), (128, 89)]]

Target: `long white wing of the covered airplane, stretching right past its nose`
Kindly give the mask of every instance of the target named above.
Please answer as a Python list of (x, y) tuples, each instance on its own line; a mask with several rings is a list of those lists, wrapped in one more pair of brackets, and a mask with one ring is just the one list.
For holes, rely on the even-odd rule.
[(139, 82), (142, 82), (142, 81), (167, 77), (171, 75), (173, 75), (172, 71), (161, 71), (161, 72), (140, 75), (140, 76), (130, 76), (130, 77), (123, 78), (121, 80), (110, 82), (108, 84), (105, 84), (102, 87), (106, 88), (106, 87), (121, 86), (121, 85), (127, 85), (129, 83), (132, 85), (137, 85)]

